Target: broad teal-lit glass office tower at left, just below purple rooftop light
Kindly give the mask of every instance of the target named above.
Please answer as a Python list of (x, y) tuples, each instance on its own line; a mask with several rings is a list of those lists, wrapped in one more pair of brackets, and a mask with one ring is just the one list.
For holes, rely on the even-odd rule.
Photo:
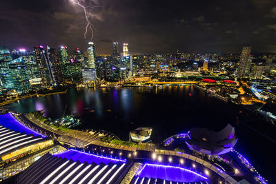
[(23, 57), (10, 61), (9, 67), (14, 83), (14, 90), (17, 90), (20, 94), (29, 92), (30, 81)]

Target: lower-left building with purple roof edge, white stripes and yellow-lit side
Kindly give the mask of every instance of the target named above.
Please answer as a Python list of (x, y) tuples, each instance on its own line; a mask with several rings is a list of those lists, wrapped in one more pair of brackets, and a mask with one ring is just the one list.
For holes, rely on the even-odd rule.
[(66, 150), (21, 124), (10, 113), (0, 115), (0, 140), (0, 181), (26, 170), (48, 152), (55, 154)]

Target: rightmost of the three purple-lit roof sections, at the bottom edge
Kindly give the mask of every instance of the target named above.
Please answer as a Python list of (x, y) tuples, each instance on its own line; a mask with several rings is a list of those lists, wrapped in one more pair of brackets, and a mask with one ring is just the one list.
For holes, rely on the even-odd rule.
[(208, 178), (182, 167), (146, 163), (138, 173), (139, 177), (160, 178), (175, 182), (206, 181)]

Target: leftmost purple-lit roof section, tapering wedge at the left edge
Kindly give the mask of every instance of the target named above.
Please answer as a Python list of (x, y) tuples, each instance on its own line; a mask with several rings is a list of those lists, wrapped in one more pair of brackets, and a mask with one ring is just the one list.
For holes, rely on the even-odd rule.
[(34, 136), (46, 137), (46, 136), (43, 136), (43, 135), (35, 132), (34, 130), (30, 129), (29, 127), (26, 127), (26, 125), (23, 125), (22, 123), (20, 123), (10, 113), (0, 115), (0, 125), (7, 127), (10, 130), (18, 131), (21, 133), (33, 134)]

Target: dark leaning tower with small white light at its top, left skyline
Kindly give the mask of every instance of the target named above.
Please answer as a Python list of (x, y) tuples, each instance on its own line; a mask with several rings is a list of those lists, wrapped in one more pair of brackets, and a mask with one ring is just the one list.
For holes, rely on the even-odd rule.
[(44, 86), (52, 85), (52, 75), (50, 72), (50, 64), (46, 57), (46, 53), (42, 45), (34, 47), (34, 56), (35, 56), (35, 60), (37, 61), (37, 66), (41, 77), (42, 85)]

